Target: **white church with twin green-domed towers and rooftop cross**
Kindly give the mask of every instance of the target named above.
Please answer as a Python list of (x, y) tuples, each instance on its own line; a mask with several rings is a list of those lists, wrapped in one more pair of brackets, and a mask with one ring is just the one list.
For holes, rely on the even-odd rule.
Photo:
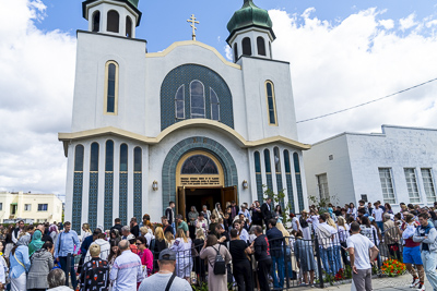
[(191, 40), (149, 52), (135, 38), (138, 2), (82, 4), (88, 31), (78, 31), (71, 132), (59, 133), (66, 220), (75, 230), (144, 214), (157, 222), (172, 201), (185, 216), (262, 203), (265, 187), (303, 210), (310, 146), (297, 141), (290, 63), (273, 58), (269, 13), (244, 1), (227, 24), (229, 62), (196, 40), (194, 15)]

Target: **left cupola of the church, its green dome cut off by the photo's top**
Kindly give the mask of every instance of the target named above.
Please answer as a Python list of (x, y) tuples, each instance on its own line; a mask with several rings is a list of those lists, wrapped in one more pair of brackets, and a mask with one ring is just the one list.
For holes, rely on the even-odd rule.
[(140, 25), (139, 0), (86, 0), (82, 2), (83, 17), (88, 31), (109, 35), (135, 37)]

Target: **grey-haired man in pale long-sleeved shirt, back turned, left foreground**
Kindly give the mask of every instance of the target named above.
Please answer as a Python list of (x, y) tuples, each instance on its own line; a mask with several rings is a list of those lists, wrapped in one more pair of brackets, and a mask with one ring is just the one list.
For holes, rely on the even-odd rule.
[(114, 262), (109, 276), (114, 282), (113, 291), (137, 290), (137, 282), (144, 279), (140, 256), (130, 251), (130, 243), (127, 240), (119, 242), (118, 248), (121, 255)]

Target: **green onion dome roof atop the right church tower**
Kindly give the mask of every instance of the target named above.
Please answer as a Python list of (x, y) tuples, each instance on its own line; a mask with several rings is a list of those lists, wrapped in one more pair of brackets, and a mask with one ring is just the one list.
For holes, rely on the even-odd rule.
[(231, 36), (239, 29), (250, 27), (250, 26), (258, 26), (261, 28), (265, 28), (271, 31), (272, 36), (273, 34), (273, 24), (272, 20), (269, 16), (269, 12), (264, 9), (260, 9), (257, 7), (252, 0), (245, 0), (240, 10), (237, 10), (234, 13), (234, 16), (227, 23), (227, 31), (229, 31)]

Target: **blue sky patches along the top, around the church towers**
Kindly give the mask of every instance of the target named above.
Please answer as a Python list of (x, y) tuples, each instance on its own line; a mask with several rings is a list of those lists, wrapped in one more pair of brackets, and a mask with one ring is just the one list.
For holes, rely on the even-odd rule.
[[(225, 39), (228, 36), (226, 24), (243, 2), (243, 0), (140, 0), (139, 9), (143, 16), (137, 28), (137, 38), (149, 41), (150, 52), (161, 51), (174, 41), (190, 39), (191, 28), (186, 21), (193, 13), (200, 21), (198, 40), (215, 47), (223, 53)], [(71, 35), (74, 35), (76, 29), (87, 29), (87, 22), (82, 17), (82, 1), (50, 0), (44, 3), (47, 5), (46, 16), (36, 24), (38, 28), (60, 29)], [(417, 19), (423, 19), (437, 11), (434, 1), (425, 0), (255, 0), (255, 3), (265, 10), (284, 10), (288, 14), (302, 14), (312, 7), (318, 19), (332, 24), (368, 8), (386, 10), (381, 15), (383, 19), (403, 19), (411, 13), (415, 13)]]

